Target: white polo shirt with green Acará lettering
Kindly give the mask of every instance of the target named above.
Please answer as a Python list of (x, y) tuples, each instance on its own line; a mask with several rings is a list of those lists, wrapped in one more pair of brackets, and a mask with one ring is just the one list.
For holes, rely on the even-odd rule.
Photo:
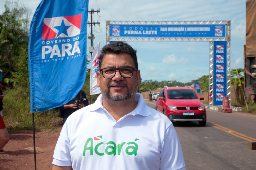
[(73, 170), (185, 169), (182, 149), (172, 122), (148, 107), (136, 93), (137, 107), (118, 121), (102, 105), (77, 110), (65, 122), (53, 164)]

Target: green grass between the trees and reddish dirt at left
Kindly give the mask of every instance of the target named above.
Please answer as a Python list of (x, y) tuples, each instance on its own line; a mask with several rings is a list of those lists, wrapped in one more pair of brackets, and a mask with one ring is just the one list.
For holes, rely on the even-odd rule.
[[(8, 130), (32, 130), (32, 113), (29, 105), (29, 90), (15, 87), (3, 90), (7, 95), (3, 99), (3, 119)], [(57, 109), (44, 112), (36, 112), (35, 129), (36, 131), (50, 130), (55, 131), (61, 122)]]

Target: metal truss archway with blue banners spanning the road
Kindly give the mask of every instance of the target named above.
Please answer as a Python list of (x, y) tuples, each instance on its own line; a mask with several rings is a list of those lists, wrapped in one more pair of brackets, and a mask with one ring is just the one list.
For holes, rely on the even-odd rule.
[(209, 105), (231, 99), (230, 21), (106, 21), (106, 42), (208, 41)]

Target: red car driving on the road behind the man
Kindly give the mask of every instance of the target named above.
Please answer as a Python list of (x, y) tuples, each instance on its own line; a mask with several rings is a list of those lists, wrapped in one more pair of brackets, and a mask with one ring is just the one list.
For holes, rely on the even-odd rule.
[(206, 110), (197, 94), (190, 87), (167, 87), (161, 90), (156, 110), (166, 115), (172, 122), (198, 121), (200, 126), (206, 125)]

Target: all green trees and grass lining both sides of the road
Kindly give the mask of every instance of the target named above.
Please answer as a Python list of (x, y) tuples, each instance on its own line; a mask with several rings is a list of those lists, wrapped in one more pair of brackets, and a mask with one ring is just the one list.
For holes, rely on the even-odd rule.
[[(29, 35), (30, 10), (17, 2), (6, 2), (5, 11), (0, 14), (0, 69), (3, 70), (5, 86), (3, 118), (9, 130), (32, 129), (32, 113), (29, 106), (29, 75), (28, 75), (28, 35)], [(87, 61), (89, 63), (89, 61)], [(239, 70), (239, 69), (238, 69)], [(243, 69), (239, 70), (240, 73)], [(243, 107), (242, 98), (243, 82), (240, 84), (234, 70), (231, 71), (232, 84), (236, 85), (236, 106)], [(242, 80), (243, 75), (239, 76)], [(201, 91), (208, 91), (208, 76), (197, 79), (201, 85)], [(87, 70), (86, 82), (83, 90), (87, 94), (89, 102), (93, 103), (98, 95), (90, 96), (90, 70)], [(188, 83), (178, 81), (142, 81), (138, 92), (147, 92), (164, 86), (190, 86), (195, 80)], [(251, 112), (255, 113), (255, 104), (249, 105)], [(36, 131), (54, 131), (60, 127), (62, 118), (58, 116), (58, 110), (52, 109), (35, 113)]]

